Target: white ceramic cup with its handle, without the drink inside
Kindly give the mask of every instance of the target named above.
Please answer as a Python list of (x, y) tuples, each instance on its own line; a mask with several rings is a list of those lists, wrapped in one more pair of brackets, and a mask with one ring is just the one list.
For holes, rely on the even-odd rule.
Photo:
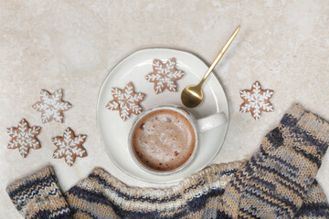
[[(144, 165), (142, 162), (140, 162), (138, 160), (138, 157), (135, 155), (134, 151), (133, 151), (133, 132), (136, 128), (136, 125), (138, 124), (138, 122), (140, 120), (143, 119), (143, 117), (145, 117), (146, 115), (148, 115), (151, 112), (154, 112), (156, 110), (174, 110), (175, 112), (178, 112), (179, 114), (183, 115), (186, 120), (188, 120), (191, 124), (191, 126), (193, 127), (193, 130), (195, 132), (195, 145), (194, 145), (194, 150), (192, 152), (192, 155), (189, 157), (189, 159), (183, 163), (181, 166), (175, 168), (174, 170), (170, 170), (170, 171), (156, 171), (154, 169), (151, 169), (149, 167), (147, 167), (146, 165)], [(224, 112), (218, 112), (215, 113), (213, 115), (207, 116), (205, 118), (202, 119), (197, 119), (187, 110), (182, 109), (181, 107), (175, 106), (175, 105), (162, 105), (159, 107), (155, 107), (153, 109), (150, 110), (146, 110), (143, 111), (140, 115), (138, 115), (138, 117), (133, 121), (133, 126), (129, 132), (129, 136), (128, 136), (128, 147), (129, 147), (129, 151), (131, 153), (131, 156), (133, 157), (133, 161), (137, 163), (137, 165), (139, 165), (144, 171), (146, 172), (151, 172), (154, 174), (171, 174), (174, 172), (178, 172), (182, 169), (184, 169), (190, 162), (192, 162), (192, 160), (194, 159), (194, 157), (196, 156), (196, 149), (198, 147), (199, 144), (199, 137), (200, 137), (200, 133), (207, 131), (207, 130), (212, 130), (214, 128), (217, 128), (220, 125), (225, 124), (228, 121), (227, 116), (225, 115)]]

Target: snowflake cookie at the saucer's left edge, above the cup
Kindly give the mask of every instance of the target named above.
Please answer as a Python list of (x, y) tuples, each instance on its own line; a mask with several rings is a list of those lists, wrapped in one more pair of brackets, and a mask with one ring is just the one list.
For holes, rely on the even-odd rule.
[(127, 120), (132, 113), (138, 115), (142, 112), (139, 103), (143, 101), (145, 94), (134, 92), (132, 82), (129, 82), (124, 89), (111, 89), (111, 95), (113, 99), (106, 105), (106, 109), (119, 110), (122, 120)]

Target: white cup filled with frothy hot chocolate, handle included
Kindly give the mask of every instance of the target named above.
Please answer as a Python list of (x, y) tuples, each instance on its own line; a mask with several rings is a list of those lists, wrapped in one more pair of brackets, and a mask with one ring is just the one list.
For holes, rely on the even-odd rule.
[(177, 172), (195, 157), (200, 131), (216, 128), (226, 121), (224, 113), (196, 120), (177, 106), (160, 106), (144, 111), (133, 122), (129, 150), (133, 160), (147, 172)]

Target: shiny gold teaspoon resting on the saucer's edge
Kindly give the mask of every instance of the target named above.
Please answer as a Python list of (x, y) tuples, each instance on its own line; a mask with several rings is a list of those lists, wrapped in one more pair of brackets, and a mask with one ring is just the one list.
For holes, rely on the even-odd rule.
[(225, 44), (225, 46), (219, 52), (218, 57), (216, 57), (213, 64), (211, 64), (210, 68), (206, 72), (206, 75), (204, 76), (204, 78), (202, 78), (200, 83), (198, 83), (197, 85), (187, 86), (183, 90), (182, 95), (181, 95), (181, 99), (182, 99), (183, 104), (187, 108), (195, 108), (202, 102), (202, 99), (203, 99), (203, 92), (202, 92), (202, 89), (201, 89), (202, 84), (205, 82), (205, 80), (207, 79), (207, 77), (209, 76), (211, 71), (216, 67), (216, 65), (218, 64), (218, 61), (224, 55), (224, 53), (228, 49), (229, 45), (233, 41), (234, 37), (237, 36), (237, 34), (239, 32), (239, 28), (240, 28), (240, 26), (238, 26), (237, 29), (232, 34), (232, 36), (229, 37), (228, 42)]

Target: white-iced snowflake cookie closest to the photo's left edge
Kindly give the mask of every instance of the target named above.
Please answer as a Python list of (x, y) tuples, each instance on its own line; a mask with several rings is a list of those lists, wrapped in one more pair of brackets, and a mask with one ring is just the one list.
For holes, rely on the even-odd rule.
[(8, 143), (8, 149), (18, 149), (19, 154), (25, 158), (29, 149), (41, 148), (40, 142), (37, 140), (41, 128), (38, 126), (29, 127), (27, 120), (20, 120), (17, 128), (11, 127), (7, 129), (7, 133), (11, 140)]

